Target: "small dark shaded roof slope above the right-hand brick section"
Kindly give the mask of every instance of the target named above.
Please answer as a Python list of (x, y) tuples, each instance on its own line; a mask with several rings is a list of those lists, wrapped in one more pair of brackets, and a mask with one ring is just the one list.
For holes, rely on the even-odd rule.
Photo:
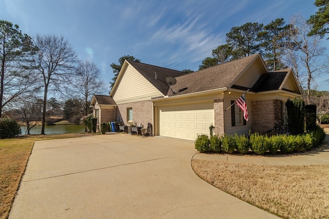
[(262, 74), (258, 81), (253, 85), (252, 91), (261, 92), (269, 90), (279, 90), (285, 81), (290, 69), (283, 69), (275, 72)]

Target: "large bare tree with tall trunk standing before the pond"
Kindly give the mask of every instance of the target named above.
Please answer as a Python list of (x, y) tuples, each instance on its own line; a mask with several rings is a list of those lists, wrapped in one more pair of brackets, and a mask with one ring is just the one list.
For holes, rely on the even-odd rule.
[(41, 134), (45, 134), (48, 92), (61, 93), (66, 90), (77, 55), (63, 36), (36, 35), (34, 42), (39, 51), (34, 56), (32, 68), (42, 78), (44, 93)]

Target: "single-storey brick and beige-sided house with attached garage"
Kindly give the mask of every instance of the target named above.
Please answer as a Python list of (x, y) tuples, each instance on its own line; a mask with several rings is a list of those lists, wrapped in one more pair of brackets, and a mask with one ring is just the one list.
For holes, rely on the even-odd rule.
[[(234, 102), (247, 90), (245, 121)], [(211, 124), (215, 134), (275, 133), (284, 103), (301, 93), (293, 70), (268, 72), (260, 54), (189, 74), (125, 61), (109, 96), (95, 95), (92, 106), (100, 122), (151, 123), (154, 135), (195, 140)]]

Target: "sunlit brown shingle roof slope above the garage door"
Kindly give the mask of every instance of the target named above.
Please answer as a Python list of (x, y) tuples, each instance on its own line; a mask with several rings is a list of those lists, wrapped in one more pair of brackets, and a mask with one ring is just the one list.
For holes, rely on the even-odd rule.
[(253, 54), (221, 65), (176, 77), (177, 83), (172, 86), (172, 89), (174, 91), (178, 91), (182, 88), (187, 89), (179, 92), (179, 94), (172, 94), (172, 92), (170, 92), (170, 95), (230, 87), (236, 78), (239, 77), (257, 57), (260, 57), (260, 55)]

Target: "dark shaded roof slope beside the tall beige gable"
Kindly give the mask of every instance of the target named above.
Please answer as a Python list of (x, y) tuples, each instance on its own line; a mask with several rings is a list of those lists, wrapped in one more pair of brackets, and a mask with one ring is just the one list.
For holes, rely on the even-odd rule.
[[(141, 75), (143, 75), (155, 88), (163, 95), (167, 95), (169, 86), (166, 82), (166, 77), (178, 77), (187, 73), (176, 71), (168, 68), (162, 68), (144, 63), (126, 60), (132, 65)], [(155, 73), (157, 79), (155, 79)]]

